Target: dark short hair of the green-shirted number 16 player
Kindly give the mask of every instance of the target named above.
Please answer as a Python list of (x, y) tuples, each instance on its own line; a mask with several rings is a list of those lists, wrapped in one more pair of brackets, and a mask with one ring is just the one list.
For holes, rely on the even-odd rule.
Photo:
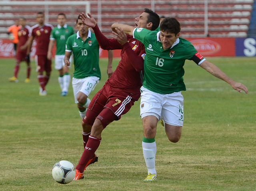
[(180, 22), (176, 18), (166, 17), (160, 24), (160, 31), (174, 33), (176, 36), (180, 32)]

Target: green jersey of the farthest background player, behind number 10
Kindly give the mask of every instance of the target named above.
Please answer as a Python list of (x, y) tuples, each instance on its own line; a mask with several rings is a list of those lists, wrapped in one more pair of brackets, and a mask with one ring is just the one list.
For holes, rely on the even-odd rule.
[(63, 27), (58, 25), (55, 27), (50, 35), (51, 40), (56, 41), (56, 55), (65, 55), (65, 45), (68, 37), (74, 34), (74, 29), (65, 24)]

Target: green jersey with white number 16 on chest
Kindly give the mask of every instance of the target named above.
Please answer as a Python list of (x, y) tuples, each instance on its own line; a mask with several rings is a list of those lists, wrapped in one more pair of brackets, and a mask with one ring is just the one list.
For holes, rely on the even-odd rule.
[(178, 38), (171, 48), (163, 50), (159, 34), (144, 28), (134, 29), (134, 38), (141, 41), (146, 49), (143, 86), (160, 94), (185, 91), (183, 66), (197, 50), (183, 38)]

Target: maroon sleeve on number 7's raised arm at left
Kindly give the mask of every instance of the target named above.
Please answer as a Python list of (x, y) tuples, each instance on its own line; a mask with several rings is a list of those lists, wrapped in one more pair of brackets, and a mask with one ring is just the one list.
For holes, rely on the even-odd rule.
[(98, 25), (93, 28), (95, 33), (95, 37), (100, 45), (100, 47), (104, 50), (114, 50), (114, 49), (122, 49), (122, 45), (115, 39), (109, 39), (100, 31)]

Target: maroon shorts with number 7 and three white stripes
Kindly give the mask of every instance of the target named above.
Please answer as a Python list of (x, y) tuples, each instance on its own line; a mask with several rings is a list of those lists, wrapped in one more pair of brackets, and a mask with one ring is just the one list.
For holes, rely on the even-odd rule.
[(111, 89), (108, 84), (92, 98), (86, 112), (86, 124), (93, 125), (95, 118), (98, 118), (103, 127), (114, 120), (119, 120), (122, 115), (126, 114), (134, 104), (134, 99), (128, 93), (120, 94), (118, 91)]

